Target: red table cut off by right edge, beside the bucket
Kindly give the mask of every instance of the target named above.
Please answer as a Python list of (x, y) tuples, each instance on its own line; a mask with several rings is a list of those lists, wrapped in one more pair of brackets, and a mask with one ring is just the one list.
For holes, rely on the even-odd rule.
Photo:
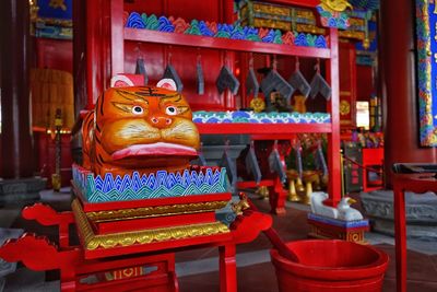
[(406, 291), (406, 227), (405, 227), (405, 190), (423, 194), (437, 192), (435, 174), (395, 174), (394, 192), (394, 236), (397, 262), (397, 291)]

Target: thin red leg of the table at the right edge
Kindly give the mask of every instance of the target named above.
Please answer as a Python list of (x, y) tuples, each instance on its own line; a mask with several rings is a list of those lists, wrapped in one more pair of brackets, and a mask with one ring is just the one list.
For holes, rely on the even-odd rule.
[(397, 291), (406, 291), (406, 229), (405, 229), (405, 195), (394, 185), (394, 230), (395, 230), (395, 264)]

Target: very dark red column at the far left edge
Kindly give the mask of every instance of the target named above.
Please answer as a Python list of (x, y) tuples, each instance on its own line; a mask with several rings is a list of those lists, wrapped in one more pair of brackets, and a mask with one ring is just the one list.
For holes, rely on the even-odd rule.
[(3, 178), (33, 175), (29, 125), (28, 0), (0, 1), (1, 167)]

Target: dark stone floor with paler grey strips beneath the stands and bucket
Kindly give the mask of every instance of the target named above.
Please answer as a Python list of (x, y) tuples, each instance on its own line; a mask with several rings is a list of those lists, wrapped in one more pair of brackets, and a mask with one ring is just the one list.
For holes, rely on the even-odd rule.
[[(358, 195), (356, 195), (358, 196)], [(356, 197), (355, 196), (355, 197)], [(63, 192), (43, 191), (42, 201), (55, 209), (68, 210), (70, 206), (69, 190)], [(253, 198), (253, 202), (267, 212), (269, 203)], [(359, 206), (356, 206), (359, 208)], [(47, 235), (55, 241), (56, 230), (42, 227), (20, 218), (22, 206), (7, 206), (0, 209), (0, 227), (24, 229), (27, 232)], [(309, 226), (306, 222), (307, 206), (299, 203), (286, 205), (284, 217), (273, 217), (274, 229), (284, 241), (307, 238)], [(366, 240), (385, 250), (390, 256), (390, 264), (383, 282), (383, 291), (395, 291), (394, 240), (392, 237), (367, 233)], [(238, 291), (274, 292), (277, 291), (274, 268), (270, 262), (271, 244), (261, 234), (252, 243), (237, 247), (237, 281)], [(220, 291), (218, 260), (215, 248), (192, 249), (176, 254), (177, 275), (180, 291)], [(429, 242), (409, 241), (408, 252), (408, 291), (437, 291), (437, 244)], [(57, 273), (35, 272), (17, 265), (14, 273), (5, 276), (3, 291), (59, 291)], [(0, 279), (0, 291), (2, 280)]]

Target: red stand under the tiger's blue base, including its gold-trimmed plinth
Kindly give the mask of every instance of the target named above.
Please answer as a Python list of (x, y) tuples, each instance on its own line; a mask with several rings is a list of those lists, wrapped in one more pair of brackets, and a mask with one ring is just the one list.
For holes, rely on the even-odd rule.
[[(175, 253), (216, 246), (221, 291), (236, 291), (236, 245), (253, 241), (271, 226), (272, 220), (259, 212), (245, 211), (227, 227), (215, 221), (213, 207), (203, 207), (206, 211), (196, 209), (199, 203), (210, 206), (229, 196), (196, 195), (107, 203), (75, 199), (73, 211), (69, 212), (56, 212), (36, 203), (25, 208), (22, 215), (42, 225), (58, 225), (59, 246), (44, 236), (25, 234), (0, 247), (0, 257), (22, 261), (33, 270), (59, 269), (61, 291), (178, 291)], [(163, 206), (179, 213), (158, 215)], [(196, 209), (199, 215), (184, 213), (182, 207), (191, 208), (190, 212)], [(125, 217), (119, 223), (111, 218), (115, 211), (119, 212), (118, 220), (120, 214)], [(70, 245), (69, 226), (74, 223), (81, 245)], [(140, 227), (134, 229), (137, 224)]]

